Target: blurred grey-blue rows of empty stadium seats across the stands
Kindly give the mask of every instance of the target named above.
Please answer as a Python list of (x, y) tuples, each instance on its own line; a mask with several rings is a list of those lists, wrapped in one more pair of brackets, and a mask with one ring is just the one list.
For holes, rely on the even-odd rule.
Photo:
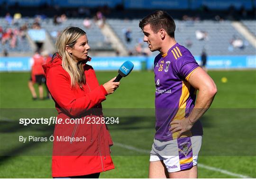
[[(31, 26), (35, 21), (34, 18), (22, 18), (19, 20), (18, 25), (9, 25), (4, 18), (0, 18), (1, 26), (6, 28), (18, 28), (27, 23)], [(89, 44), (93, 50), (113, 50), (111, 44), (106, 42), (106, 37), (101, 33), (101, 29), (91, 20), (91, 28), (85, 29), (82, 18), (68, 18), (60, 25), (53, 23), (53, 18), (46, 18), (40, 21), (42, 28), (52, 35), (53, 43), (55, 43), (57, 34), (63, 30), (66, 26), (77, 26), (84, 29), (87, 33)], [(135, 51), (135, 46), (138, 43), (143, 44), (146, 47), (146, 43), (143, 42), (143, 33), (138, 27), (139, 19), (123, 20), (123, 19), (107, 19), (106, 21), (113, 31), (117, 34), (123, 44), (125, 44), (128, 51)], [(178, 43), (186, 46), (193, 55), (200, 55), (202, 49), (206, 49), (208, 55), (255, 55), (255, 48), (247, 42), (247, 40), (236, 31), (231, 25), (231, 21), (181, 21), (175, 20), (176, 32), (175, 39)], [(242, 23), (256, 35), (255, 21), (243, 20)], [(131, 41), (126, 42), (125, 31), (131, 30)], [(195, 32), (201, 30), (207, 33), (205, 40), (198, 40)], [(235, 38), (239, 38), (243, 41), (243, 48), (234, 48), (231, 41)], [(192, 43), (188, 45), (188, 41)], [(1, 49), (8, 49), (8, 51), (31, 51), (29, 45), (27, 45), (27, 39), (17, 39), (17, 45), (15, 48), (10, 48), (9, 43), (3, 45)], [(158, 52), (153, 53), (156, 55)]]

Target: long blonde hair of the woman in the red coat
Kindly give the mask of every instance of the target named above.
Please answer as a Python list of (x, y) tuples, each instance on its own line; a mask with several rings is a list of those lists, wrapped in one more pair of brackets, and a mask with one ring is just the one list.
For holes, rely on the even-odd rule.
[(86, 33), (78, 27), (66, 27), (58, 36), (56, 48), (59, 55), (62, 57), (62, 67), (71, 78), (71, 86), (75, 87), (78, 84), (81, 88), (85, 84), (85, 76), (82, 61), (77, 62), (71, 53), (65, 50), (68, 45), (73, 48), (77, 39)]

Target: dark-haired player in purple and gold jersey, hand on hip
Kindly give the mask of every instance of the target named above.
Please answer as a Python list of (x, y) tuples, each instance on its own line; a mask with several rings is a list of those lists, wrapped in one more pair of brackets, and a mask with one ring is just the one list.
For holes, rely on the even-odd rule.
[[(155, 139), (149, 178), (197, 178), (202, 126), (216, 85), (191, 52), (174, 39), (175, 23), (165, 11), (144, 17), (139, 27), (155, 57)], [(198, 95), (196, 98), (196, 92)]]

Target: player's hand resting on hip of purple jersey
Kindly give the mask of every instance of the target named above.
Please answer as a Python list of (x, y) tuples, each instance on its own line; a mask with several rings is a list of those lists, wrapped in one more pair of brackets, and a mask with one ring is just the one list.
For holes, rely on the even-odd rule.
[(186, 131), (189, 131), (193, 124), (192, 122), (190, 121), (189, 118), (183, 118), (183, 119), (176, 119), (176, 120), (173, 120), (171, 123), (170, 123), (170, 126), (171, 128), (169, 129), (173, 134), (175, 132), (179, 132), (177, 138), (179, 138), (180, 136), (182, 136), (182, 134)]

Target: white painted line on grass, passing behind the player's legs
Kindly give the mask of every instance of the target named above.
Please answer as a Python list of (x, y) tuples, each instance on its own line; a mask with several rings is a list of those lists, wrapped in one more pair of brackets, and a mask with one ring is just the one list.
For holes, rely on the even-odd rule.
[[(137, 151), (137, 152), (140, 152), (140, 153), (147, 153), (147, 154), (150, 153), (150, 151), (139, 149), (139, 148), (136, 148), (136, 147), (130, 146), (130, 145), (125, 145), (125, 144), (116, 143), (116, 142), (114, 142), (114, 145), (122, 147), (122, 148), (129, 149), (129, 150)], [(222, 169), (218, 169), (218, 168), (215, 168), (215, 167), (210, 167), (210, 166), (200, 164), (200, 163), (198, 163), (198, 167), (201, 167), (201, 168), (204, 168), (204, 169), (207, 169), (207, 170), (218, 171), (220, 173), (223, 173), (223, 174), (226, 174), (226, 175), (229, 175), (229, 176), (233, 176), (233, 177), (238, 177), (238, 178), (243, 178), (243, 179), (251, 178), (251, 177), (246, 176), (246, 175), (233, 173), (233, 172), (230, 172), (228, 170), (222, 170)]]

